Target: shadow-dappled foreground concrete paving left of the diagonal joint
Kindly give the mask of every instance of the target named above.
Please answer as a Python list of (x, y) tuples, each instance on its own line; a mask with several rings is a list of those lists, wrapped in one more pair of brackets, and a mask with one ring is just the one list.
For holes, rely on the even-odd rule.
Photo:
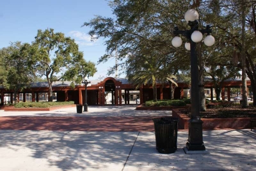
[[(0, 133), (0, 148), (3, 149), (1, 161), (5, 160), (6, 152), (13, 154), (9, 156), (13, 160), (44, 160), (39, 163), (26, 163), (25, 168), (29, 170), (36, 170), (40, 165), (44, 165), (45, 170), (108, 170), (114, 166), (122, 170), (138, 135), (136, 132), (13, 130), (0, 130)], [(26, 151), (25, 154), (22, 150)], [(4, 168), (4, 163), (2, 167)], [(12, 170), (19, 165), (13, 161), (7, 167)]]

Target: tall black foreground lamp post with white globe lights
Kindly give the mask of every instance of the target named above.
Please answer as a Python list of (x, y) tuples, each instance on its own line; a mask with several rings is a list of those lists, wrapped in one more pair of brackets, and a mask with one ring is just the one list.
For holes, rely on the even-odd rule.
[(198, 89), (198, 66), (197, 66), (197, 55), (196, 55), (196, 43), (202, 41), (203, 34), (207, 34), (204, 38), (204, 43), (207, 46), (214, 45), (214, 37), (210, 35), (211, 27), (206, 26), (205, 29), (198, 29), (198, 19), (199, 14), (196, 10), (188, 10), (185, 13), (185, 20), (190, 26), (189, 30), (180, 31), (175, 27), (173, 34), (175, 37), (172, 40), (173, 47), (180, 47), (182, 45), (182, 40), (179, 34), (184, 35), (188, 42), (185, 43), (187, 50), (190, 50), (190, 60), (191, 60), (191, 119), (189, 119), (189, 135), (188, 142), (184, 151), (186, 154), (196, 153), (207, 153), (205, 151), (205, 146), (203, 142), (203, 121), (200, 119), (200, 105), (199, 101), (199, 89)]

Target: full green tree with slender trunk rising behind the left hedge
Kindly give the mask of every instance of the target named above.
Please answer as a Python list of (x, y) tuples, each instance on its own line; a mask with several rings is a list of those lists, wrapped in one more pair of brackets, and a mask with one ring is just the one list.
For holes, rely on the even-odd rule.
[(85, 61), (74, 39), (54, 33), (54, 29), (38, 30), (32, 57), (37, 75), (47, 78), (49, 101), (52, 101), (52, 82), (68, 80), (81, 84), (84, 77), (93, 76), (97, 71), (94, 63)]

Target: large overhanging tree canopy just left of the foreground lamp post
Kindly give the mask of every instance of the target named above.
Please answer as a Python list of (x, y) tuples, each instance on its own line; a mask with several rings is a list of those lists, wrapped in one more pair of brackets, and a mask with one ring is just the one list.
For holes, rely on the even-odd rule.
[[(188, 4), (184, 1), (122, 0), (111, 1), (110, 6), (115, 17), (96, 16), (83, 25), (92, 28), (89, 32), (92, 40), (106, 38), (106, 54), (100, 57), (99, 63), (112, 59), (117, 51), (118, 67), (129, 77), (140, 71), (148, 71), (146, 63), (155, 66), (165, 80), (181, 68), (189, 69), (189, 53), (170, 46), (173, 38), (171, 30), (177, 24), (184, 25), (177, 21), (179, 17), (184, 17)], [(109, 73), (113, 71), (115, 66)]]

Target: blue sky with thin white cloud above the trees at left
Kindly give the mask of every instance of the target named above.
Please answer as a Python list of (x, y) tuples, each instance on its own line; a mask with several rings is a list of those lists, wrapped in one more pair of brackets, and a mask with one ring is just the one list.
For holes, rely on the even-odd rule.
[[(97, 64), (105, 54), (104, 39), (90, 41), (90, 27), (81, 27), (95, 15), (113, 17), (108, 1), (105, 0), (8, 0), (0, 2), (0, 48), (11, 42), (31, 43), (38, 29), (47, 28), (74, 38), (84, 59)], [(115, 65), (115, 58), (107, 63), (97, 64), (97, 73), (89, 80), (99, 80), (106, 75), (108, 68)], [(122, 77), (122, 76), (121, 76)], [(123, 76), (124, 77), (124, 76)]]

